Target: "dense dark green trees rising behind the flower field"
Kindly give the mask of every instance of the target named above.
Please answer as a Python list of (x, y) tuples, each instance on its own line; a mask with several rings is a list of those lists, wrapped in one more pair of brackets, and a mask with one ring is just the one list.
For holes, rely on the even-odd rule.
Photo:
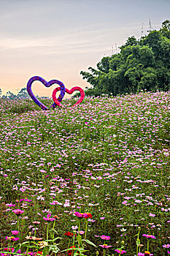
[(93, 86), (85, 91), (86, 95), (168, 91), (170, 20), (165, 20), (159, 31), (149, 31), (139, 40), (129, 37), (120, 47), (120, 53), (104, 57), (97, 68), (89, 67), (90, 72), (80, 72), (82, 78)]

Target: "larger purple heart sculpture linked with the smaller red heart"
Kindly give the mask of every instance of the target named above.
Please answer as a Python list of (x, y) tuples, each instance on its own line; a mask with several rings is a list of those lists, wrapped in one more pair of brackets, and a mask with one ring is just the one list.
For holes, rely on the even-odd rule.
[[(33, 94), (32, 90), (31, 90), (31, 85), (36, 80), (42, 82), (45, 85), (45, 87), (53, 86), (54, 83), (57, 83), (59, 86), (61, 86), (61, 87), (59, 87), (59, 89), (61, 90), (61, 94), (59, 95), (59, 97), (57, 99), (58, 102), (61, 102), (61, 100), (63, 99), (64, 94), (65, 94), (65, 86), (61, 81), (59, 81), (59, 80), (50, 80), (49, 82), (47, 82), (45, 79), (40, 78), (39, 76), (34, 76), (33, 78), (30, 78), (30, 80), (28, 80), (27, 91), (28, 91), (28, 94), (31, 97), (31, 99), (33, 99), (34, 102), (37, 105), (39, 105), (40, 108), (42, 108), (42, 110), (48, 110), (49, 108), (47, 108), (42, 102), (40, 102), (39, 99), (37, 99), (35, 97), (35, 95)], [(55, 108), (56, 106), (57, 105), (55, 103), (53, 103), (53, 105), (51, 105), (50, 108)]]

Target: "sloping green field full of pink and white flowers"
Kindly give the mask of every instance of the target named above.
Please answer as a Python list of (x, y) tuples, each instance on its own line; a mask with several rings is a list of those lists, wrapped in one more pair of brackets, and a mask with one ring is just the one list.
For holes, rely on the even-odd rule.
[(170, 254), (170, 92), (0, 101), (1, 256)]

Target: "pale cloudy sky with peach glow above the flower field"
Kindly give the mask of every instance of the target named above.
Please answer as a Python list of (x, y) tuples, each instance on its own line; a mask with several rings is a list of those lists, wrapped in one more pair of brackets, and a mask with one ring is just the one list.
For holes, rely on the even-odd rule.
[[(170, 19), (170, 0), (0, 0), (0, 89), (17, 94), (39, 75), (66, 88), (90, 87), (80, 71), (96, 68), (119, 52), (128, 37), (139, 39)], [(143, 25), (142, 25), (143, 24)], [(34, 94), (50, 97), (34, 82)]]

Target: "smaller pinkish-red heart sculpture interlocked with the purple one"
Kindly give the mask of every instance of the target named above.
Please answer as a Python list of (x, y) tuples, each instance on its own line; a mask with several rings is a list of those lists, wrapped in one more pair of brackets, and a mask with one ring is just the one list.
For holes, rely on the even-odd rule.
[[(57, 87), (56, 89), (54, 89), (52, 97), (53, 97), (53, 101), (55, 102), (56, 105), (64, 108), (64, 106), (61, 104), (61, 102), (59, 102), (59, 100), (56, 98), (56, 93), (57, 93), (57, 91), (60, 91), (60, 90), (61, 90), (60, 87)], [(74, 91), (80, 91), (81, 96), (80, 96), (80, 99), (72, 107), (80, 104), (85, 97), (85, 92), (78, 86), (73, 87), (71, 90), (66, 89), (67, 94), (72, 94)]]

